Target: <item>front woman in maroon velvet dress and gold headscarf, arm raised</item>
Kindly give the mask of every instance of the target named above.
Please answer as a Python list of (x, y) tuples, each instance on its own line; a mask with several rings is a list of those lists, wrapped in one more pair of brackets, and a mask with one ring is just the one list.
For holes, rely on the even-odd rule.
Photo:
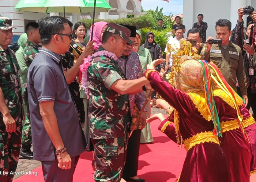
[[(227, 182), (227, 161), (218, 137), (213, 134), (214, 123), (207, 107), (201, 64), (189, 60), (180, 65), (175, 74), (177, 89), (163, 81), (154, 70), (155, 64), (159, 63), (151, 63), (151, 70), (146, 70), (145, 76), (152, 88), (173, 106), (175, 128), (173, 126), (172, 129), (181, 139), (177, 143), (184, 143), (187, 150), (178, 181)], [(162, 128), (169, 123), (166, 122)]]

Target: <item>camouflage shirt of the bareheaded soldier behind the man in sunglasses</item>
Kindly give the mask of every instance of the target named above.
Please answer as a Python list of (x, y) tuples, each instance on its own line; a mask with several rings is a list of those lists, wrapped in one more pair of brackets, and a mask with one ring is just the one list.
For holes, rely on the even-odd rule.
[(24, 49), (24, 58), (25, 58), (27, 67), (30, 66), (31, 62), (37, 55), (39, 47), (40, 46), (38, 44), (35, 44), (31, 41), (27, 41), (27, 46)]

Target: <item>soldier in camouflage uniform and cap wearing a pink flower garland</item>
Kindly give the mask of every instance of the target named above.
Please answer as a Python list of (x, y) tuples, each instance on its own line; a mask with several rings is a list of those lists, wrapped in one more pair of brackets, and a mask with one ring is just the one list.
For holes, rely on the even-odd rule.
[(126, 159), (131, 114), (129, 93), (138, 93), (147, 84), (145, 77), (125, 80), (117, 58), (124, 51), (131, 31), (109, 23), (102, 47), (93, 54), (88, 68), (90, 138), (94, 145), (95, 181), (121, 180)]

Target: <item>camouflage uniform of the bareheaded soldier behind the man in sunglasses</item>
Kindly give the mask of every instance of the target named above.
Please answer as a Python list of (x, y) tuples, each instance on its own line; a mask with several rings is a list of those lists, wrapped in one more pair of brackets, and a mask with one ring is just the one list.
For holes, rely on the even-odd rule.
[[(38, 48), (40, 46), (38, 44), (35, 44), (31, 41), (27, 41), (27, 45), (24, 49), (24, 59), (27, 64), (27, 67), (30, 66), (33, 59), (38, 53)], [(31, 121), (30, 121), (30, 114), (29, 114), (29, 98), (27, 95), (27, 87), (23, 87), (23, 99), (24, 103), (27, 106), (27, 113), (26, 113), (26, 119), (22, 128), (22, 151), (27, 152), (30, 151), (30, 148), (32, 146), (32, 133), (31, 133)]]

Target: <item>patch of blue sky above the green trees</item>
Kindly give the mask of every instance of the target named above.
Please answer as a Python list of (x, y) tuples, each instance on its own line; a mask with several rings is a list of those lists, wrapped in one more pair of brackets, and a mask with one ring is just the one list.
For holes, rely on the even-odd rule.
[(163, 8), (162, 12), (164, 15), (169, 15), (170, 12), (172, 12), (173, 15), (182, 13), (183, 0), (169, 0), (169, 2), (170, 3), (161, 0), (142, 0), (141, 5), (144, 10), (155, 10), (157, 6), (159, 9)]

